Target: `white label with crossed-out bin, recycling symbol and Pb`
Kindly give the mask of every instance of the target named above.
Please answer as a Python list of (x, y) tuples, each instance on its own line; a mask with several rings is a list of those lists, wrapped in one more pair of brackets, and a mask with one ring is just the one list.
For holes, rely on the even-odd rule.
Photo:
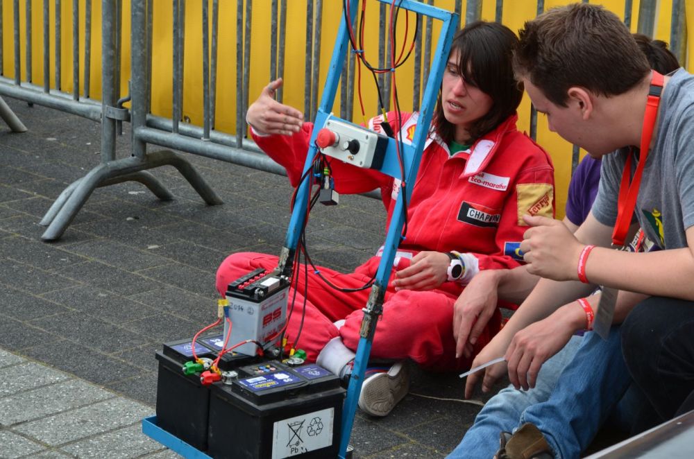
[(335, 408), (282, 419), (273, 424), (272, 459), (291, 458), (332, 444)]

